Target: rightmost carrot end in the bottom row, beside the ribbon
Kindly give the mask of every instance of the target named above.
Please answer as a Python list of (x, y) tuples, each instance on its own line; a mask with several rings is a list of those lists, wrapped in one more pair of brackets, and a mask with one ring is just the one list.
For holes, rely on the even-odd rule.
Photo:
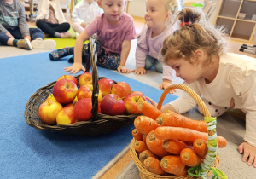
[(180, 153), (180, 159), (184, 165), (196, 166), (201, 164), (201, 159), (197, 154), (190, 148), (184, 148)]

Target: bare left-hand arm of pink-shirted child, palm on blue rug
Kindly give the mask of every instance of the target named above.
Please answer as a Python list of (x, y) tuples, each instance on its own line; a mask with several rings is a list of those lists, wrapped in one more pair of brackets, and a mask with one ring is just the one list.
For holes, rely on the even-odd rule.
[(82, 64), (82, 52), (83, 52), (83, 47), (84, 47), (84, 41), (88, 40), (89, 36), (86, 34), (86, 32), (82, 32), (79, 35), (79, 38), (77, 38), (75, 47), (74, 47), (74, 62), (73, 66), (70, 67), (65, 67), (64, 70), (65, 72), (69, 73), (77, 73), (80, 70), (85, 71), (85, 68)]

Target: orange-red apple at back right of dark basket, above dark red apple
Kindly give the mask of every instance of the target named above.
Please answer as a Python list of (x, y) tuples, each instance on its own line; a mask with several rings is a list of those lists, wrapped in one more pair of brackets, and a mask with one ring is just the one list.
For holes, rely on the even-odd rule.
[(120, 98), (124, 98), (126, 95), (131, 94), (131, 87), (126, 82), (119, 82), (113, 85), (111, 93), (118, 95)]

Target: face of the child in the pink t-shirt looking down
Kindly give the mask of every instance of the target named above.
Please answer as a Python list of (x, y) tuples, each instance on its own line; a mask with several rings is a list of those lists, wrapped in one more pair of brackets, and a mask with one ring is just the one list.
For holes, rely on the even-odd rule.
[(117, 24), (120, 16), (124, 12), (125, 0), (100, 0), (99, 6), (103, 9), (104, 14), (110, 24)]

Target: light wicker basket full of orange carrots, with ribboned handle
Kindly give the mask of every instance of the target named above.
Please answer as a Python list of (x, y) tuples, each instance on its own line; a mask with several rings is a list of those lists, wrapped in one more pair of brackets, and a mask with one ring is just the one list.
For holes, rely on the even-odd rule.
[[(174, 89), (184, 90), (194, 98), (204, 120), (160, 111), (166, 95)], [(163, 92), (157, 107), (147, 101), (140, 101), (138, 107), (143, 115), (134, 120), (130, 153), (141, 178), (226, 177), (218, 170), (217, 148), (226, 147), (227, 141), (217, 136), (216, 118), (188, 86), (173, 84)]]

